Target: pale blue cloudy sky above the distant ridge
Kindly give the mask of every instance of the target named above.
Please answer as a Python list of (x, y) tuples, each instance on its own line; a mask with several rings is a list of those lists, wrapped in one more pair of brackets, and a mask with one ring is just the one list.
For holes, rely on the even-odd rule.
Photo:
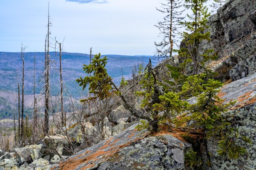
[(163, 0), (1, 0), (0, 51), (44, 51), (48, 2), (51, 38), (65, 52), (154, 55), (161, 40)]

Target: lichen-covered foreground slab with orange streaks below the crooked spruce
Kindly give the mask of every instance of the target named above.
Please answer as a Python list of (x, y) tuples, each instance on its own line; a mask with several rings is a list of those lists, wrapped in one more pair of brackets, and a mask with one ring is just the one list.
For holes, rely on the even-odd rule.
[(146, 137), (148, 132), (139, 132), (135, 126), (82, 150), (53, 169), (184, 169), (184, 152), (190, 148), (190, 144), (180, 141), (171, 134)]

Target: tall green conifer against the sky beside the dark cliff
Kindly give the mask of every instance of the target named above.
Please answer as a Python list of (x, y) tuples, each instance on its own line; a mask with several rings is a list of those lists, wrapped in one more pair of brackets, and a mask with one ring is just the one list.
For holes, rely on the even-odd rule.
[[(204, 3), (208, 0), (185, 0), (187, 9), (191, 9), (193, 15), (187, 15), (188, 21), (181, 22), (186, 28), (182, 33), (182, 48), (178, 51), (182, 67), (193, 75), (205, 73), (207, 62), (216, 59), (213, 49), (202, 49), (199, 45), (202, 41), (210, 41), (210, 33), (206, 32), (207, 21), (210, 16)], [(200, 51), (200, 53), (199, 53)], [(192, 63), (192, 64), (191, 64)]]

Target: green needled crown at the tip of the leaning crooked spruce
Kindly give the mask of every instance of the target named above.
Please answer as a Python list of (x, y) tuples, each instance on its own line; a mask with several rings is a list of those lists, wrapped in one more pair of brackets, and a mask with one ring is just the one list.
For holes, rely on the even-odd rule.
[(107, 70), (105, 68), (107, 64), (107, 57), (101, 57), (101, 53), (99, 55), (94, 55), (92, 59), (92, 64), (83, 65), (83, 70), (85, 73), (93, 73), (93, 75), (86, 76), (84, 78), (80, 77), (76, 79), (76, 82), (79, 83), (79, 86), (83, 86), (83, 90), (89, 84), (89, 93), (93, 93), (93, 97), (89, 97), (88, 99), (81, 99), (80, 102), (85, 103), (89, 100), (103, 100), (110, 97), (112, 94), (117, 94), (117, 91), (112, 88), (112, 78), (108, 75)]

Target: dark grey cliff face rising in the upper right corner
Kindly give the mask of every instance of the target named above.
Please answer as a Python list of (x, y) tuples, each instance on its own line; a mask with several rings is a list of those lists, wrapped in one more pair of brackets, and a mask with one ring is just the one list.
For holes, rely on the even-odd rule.
[(204, 42), (204, 48), (215, 49), (220, 57), (214, 67), (231, 68), (233, 81), (256, 73), (255, 0), (230, 0), (209, 18), (207, 31), (211, 42)]

